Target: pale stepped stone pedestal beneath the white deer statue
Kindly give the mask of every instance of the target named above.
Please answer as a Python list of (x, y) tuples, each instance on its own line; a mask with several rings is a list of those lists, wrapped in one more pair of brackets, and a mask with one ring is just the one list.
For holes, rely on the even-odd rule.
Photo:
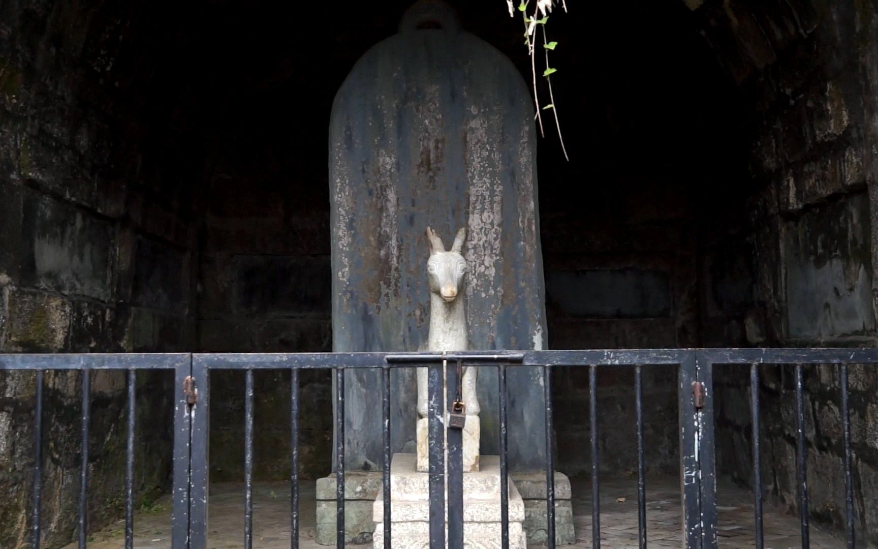
[[(464, 473), (464, 549), (500, 548), (500, 482), (509, 487), (509, 547), (525, 549), (522, 496), (511, 480), (500, 479), (500, 459), (482, 456), (479, 472)], [(391, 536), (393, 547), (429, 547), (429, 474), (417, 471), (414, 454), (395, 454), (391, 464)], [(446, 491), (446, 509), (447, 505)], [(384, 547), (384, 500), (374, 502), (373, 547)], [(446, 523), (447, 524), (447, 523)], [(446, 536), (446, 547), (447, 547)]]

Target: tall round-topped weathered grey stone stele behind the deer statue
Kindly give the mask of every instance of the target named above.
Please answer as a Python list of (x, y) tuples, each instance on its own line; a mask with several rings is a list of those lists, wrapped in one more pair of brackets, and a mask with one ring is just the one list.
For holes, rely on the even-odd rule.
[[(421, 33), (418, 21), (441, 30)], [(399, 33), (357, 61), (330, 116), (333, 350), (417, 350), (426, 341), (427, 226), (467, 228), (466, 311), (471, 349), (542, 349), (546, 341), (538, 232), (536, 132), (521, 74), (460, 29), (443, 4), (417, 4)], [(543, 461), (536, 368), (509, 387), (509, 464)], [(382, 459), (379, 372), (346, 372), (345, 460)], [(392, 451), (415, 438), (414, 391), (392, 380)], [(499, 438), (496, 372), (479, 375), (481, 448)], [(411, 395), (411, 398), (408, 398)]]

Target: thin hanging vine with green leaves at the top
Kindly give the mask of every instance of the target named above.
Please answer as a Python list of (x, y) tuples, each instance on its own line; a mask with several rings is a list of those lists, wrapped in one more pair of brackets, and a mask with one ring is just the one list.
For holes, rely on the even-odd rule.
[[(564, 152), (564, 157), (569, 161), (570, 158), (567, 156), (567, 148), (564, 145), (564, 136), (561, 134), (561, 124), (558, 121), (558, 107), (555, 105), (555, 98), (552, 94), (551, 89), (551, 75), (558, 72), (558, 69), (554, 69), (549, 64), (549, 52), (554, 51), (556, 47), (558, 47), (557, 41), (549, 41), (548, 35), (546, 34), (546, 23), (549, 21), (549, 14), (552, 11), (552, 8), (555, 4), (558, 4), (557, 0), (536, 0), (536, 4), (533, 9), (529, 11), (529, 4), (531, 0), (522, 0), (521, 4), (518, 4), (518, 11), (522, 14), (522, 22), (524, 24), (524, 44), (528, 47), (528, 55), (530, 57), (530, 72), (533, 77), (534, 84), (534, 105), (536, 106), (536, 121), (540, 126), (540, 134), (545, 135), (543, 132), (543, 111), (551, 110), (555, 119), (555, 128), (558, 130), (558, 140), (561, 141), (561, 150)], [(509, 17), (515, 17), (515, 4), (513, 4), (513, 0), (506, 0), (507, 8), (509, 9)], [(567, 3), (566, 0), (561, 0), (561, 7), (564, 11), (567, 11)], [(540, 34), (543, 37), (543, 61), (545, 63), (543, 69), (543, 78), (546, 79), (546, 84), (549, 88), (549, 103), (547, 105), (543, 105), (540, 107), (540, 99), (539, 92), (537, 90), (536, 82), (536, 41), (537, 41), (537, 29), (539, 29)]]

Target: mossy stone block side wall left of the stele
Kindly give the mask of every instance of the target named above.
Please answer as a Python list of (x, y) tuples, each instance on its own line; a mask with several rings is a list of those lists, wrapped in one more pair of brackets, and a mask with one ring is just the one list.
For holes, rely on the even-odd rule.
[[(118, 6), (117, 6), (118, 7)], [(196, 233), (165, 105), (142, 103), (148, 20), (0, 6), (0, 352), (191, 350)], [(129, 42), (130, 40), (130, 42)], [(159, 62), (154, 59), (153, 62)], [(148, 121), (145, 121), (148, 120)], [(161, 135), (161, 139), (157, 136)], [(175, 152), (177, 150), (177, 152)], [(136, 503), (169, 487), (173, 376), (143, 372)], [(124, 505), (125, 373), (91, 374), (89, 527)], [(47, 372), (43, 546), (76, 533), (79, 372)], [(0, 372), (0, 546), (28, 539), (34, 375)]]

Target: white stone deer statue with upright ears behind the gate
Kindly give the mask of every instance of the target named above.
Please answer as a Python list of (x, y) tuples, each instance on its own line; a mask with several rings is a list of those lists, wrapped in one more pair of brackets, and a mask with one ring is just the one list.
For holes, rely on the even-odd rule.
[[(465, 238), (466, 228), (460, 228), (451, 249), (445, 251), (445, 246), (439, 235), (432, 228), (427, 228), (430, 250), (427, 261), (427, 278), (430, 289), (430, 324), (426, 349), (428, 351), (467, 350), (469, 346), (464, 303), (466, 260), (461, 255)], [(466, 415), (464, 431), (469, 435), (468, 437), (464, 436), (464, 472), (479, 470), (479, 399), (476, 396), (478, 373), (478, 368), (464, 367), (461, 381), (461, 396)], [(417, 410), (418, 417), (421, 418), (419, 420), (418, 467), (426, 470), (428, 408), (428, 371), (426, 367), (418, 368), (417, 379)], [(448, 390), (453, 391), (454, 389), (449, 387)], [(422, 441), (421, 438), (423, 438)]]

